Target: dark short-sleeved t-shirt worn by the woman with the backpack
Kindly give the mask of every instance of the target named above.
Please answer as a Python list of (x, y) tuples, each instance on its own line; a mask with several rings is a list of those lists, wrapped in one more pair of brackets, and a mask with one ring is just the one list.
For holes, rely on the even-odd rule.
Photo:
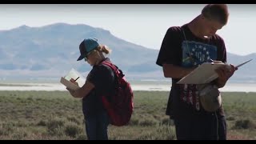
[[(103, 61), (110, 61), (105, 58)], [(85, 115), (101, 113), (104, 109), (102, 105), (102, 95), (109, 95), (114, 90), (114, 72), (110, 67), (102, 64), (93, 66), (87, 75), (86, 81), (94, 84), (94, 89), (82, 98), (82, 111)]]

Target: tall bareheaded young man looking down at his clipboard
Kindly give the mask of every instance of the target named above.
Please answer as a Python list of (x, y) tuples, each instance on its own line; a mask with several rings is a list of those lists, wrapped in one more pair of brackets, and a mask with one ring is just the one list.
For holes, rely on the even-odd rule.
[[(204, 110), (198, 86), (176, 82), (203, 62), (226, 62), (225, 43), (215, 33), (226, 25), (228, 16), (226, 5), (206, 5), (191, 22), (170, 27), (162, 41), (156, 63), (166, 78), (172, 78), (166, 114), (174, 119), (177, 139), (226, 139), (223, 107), (214, 112)], [(219, 68), (212, 83), (218, 88), (225, 86), (235, 69), (233, 65)]]

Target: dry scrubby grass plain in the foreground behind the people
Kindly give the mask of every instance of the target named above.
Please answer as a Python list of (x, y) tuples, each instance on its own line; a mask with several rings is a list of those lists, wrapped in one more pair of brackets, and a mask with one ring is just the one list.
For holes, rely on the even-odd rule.
[[(165, 115), (169, 92), (135, 91), (128, 126), (109, 126), (110, 139), (175, 139)], [(256, 139), (255, 93), (222, 93), (228, 139)], [(0, 139), (86, 139), (82, 103), (62, 91), (0, 91)]]

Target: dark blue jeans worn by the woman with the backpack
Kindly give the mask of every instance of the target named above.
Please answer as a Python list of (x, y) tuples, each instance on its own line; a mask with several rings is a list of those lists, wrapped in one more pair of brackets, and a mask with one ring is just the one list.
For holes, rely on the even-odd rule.
[(110, 124), (106, 111), (85, 117), (88, 140), (108, 140), (107, 126)]

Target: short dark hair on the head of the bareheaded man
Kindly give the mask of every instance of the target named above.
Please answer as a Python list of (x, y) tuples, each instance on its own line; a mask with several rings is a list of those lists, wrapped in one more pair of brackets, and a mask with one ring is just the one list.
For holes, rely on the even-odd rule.
[(226, 25), (229, 12), (226, 4), (209, 4), (202, 9), (202, 15), (209, 19), (217, 20)]

